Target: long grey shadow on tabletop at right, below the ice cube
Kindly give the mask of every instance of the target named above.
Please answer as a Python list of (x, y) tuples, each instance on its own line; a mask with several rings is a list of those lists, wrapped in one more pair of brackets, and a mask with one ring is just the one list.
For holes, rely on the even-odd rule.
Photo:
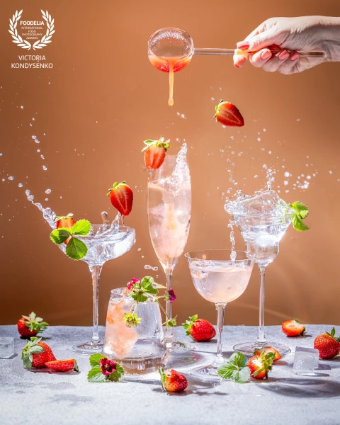
[[(319, 376), (324, 374), (319, 373)], [(325, 379), (282, 378), (256, 384), (262, 390), (286, 397), (329, 398), (340, 397), (340, 382)]]

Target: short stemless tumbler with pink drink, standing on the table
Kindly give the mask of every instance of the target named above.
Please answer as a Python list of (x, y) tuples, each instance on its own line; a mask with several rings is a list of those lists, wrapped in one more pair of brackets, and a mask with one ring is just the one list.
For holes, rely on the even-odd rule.
[(135, 313), (141, 319), (137, 327), (127, 327), (124, 314), (130, 312), (135, 301), (125, 292), (126, 288), (111, 290), (103, 354), (118, 361), (125, 374), (146, 375), (166, 363), (161, 312), (158, 303), (149, 298), (137, 305)]

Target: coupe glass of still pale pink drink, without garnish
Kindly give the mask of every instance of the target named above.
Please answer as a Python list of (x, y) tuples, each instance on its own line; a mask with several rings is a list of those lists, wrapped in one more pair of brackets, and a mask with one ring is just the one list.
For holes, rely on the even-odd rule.
[[(230, 254), (236, 252), (234, 261)], [(191, 375), (202, 380), (216, 380), (217, 368), (225, 362), (222, 352), (222, 331), (225, 306), (244, 293), (249, 283), (254, 262), (244, 251), (229, 249), (207, 249), (185, 254), (188, 266), (198, 293), (215, 303), (217, 312), (217, 354), (210, 365), (194, 368)]]

